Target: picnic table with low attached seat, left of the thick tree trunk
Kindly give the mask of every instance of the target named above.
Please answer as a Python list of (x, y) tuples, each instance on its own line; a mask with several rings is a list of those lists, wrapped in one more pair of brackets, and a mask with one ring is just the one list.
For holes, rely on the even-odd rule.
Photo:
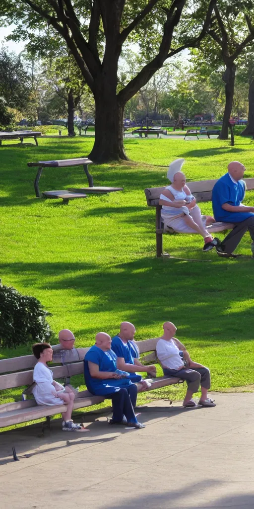
[(63, 200), (64, 204), (68, 204), (69, 200), (74, 200), (76, 198), (86, 198), (87, 193), (107, 193), (112, 191), (122, 191), (122, 187), (103, 187), (93, 186), (93, 178), (91, 174), (88, 171), (88, 164), (92, 164), (92, 161), (88, 159), (87, 157), (80, 157), (76, 159), (57, 159), (55, 161), (38, 161), (38, 162), (28, 162), (27, 166), (35, 166), (38, 167), (38, 172), (35, 178), (35, 193), (37, 198), (41, 197), (41, 192), (39, 189), (39, 180), (43, 172), (43, 168), (67, 168), (69, 166), (83, 166), (84, 172), (86, 174), (89, 187), (81, 187), (78, 188), (71, 188), (69, 190), (62, 189), (58, 191), (43, 191), (42, 195), (45, 198), (61, 198)]

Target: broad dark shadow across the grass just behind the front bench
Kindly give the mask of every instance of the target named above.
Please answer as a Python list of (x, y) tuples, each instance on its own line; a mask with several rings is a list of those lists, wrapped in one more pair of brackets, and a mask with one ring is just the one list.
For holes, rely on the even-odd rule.
[[(35, 289), (62, 292), (72, 288), (76, 311), (87, 316), (115, 312), (137, 329), (170, 320), (184, 335), (194, 340), (202, 337), (208, 346), (242, 337), (243, 323), (244, 338), (252, 341), (252, 263), (221, 263), (217, 258), (205, 264), (176, 259), (165, 263), (142, 258), (108, 268), (81, 262), (13, 263), (2, 264), (0, 270), (19, 274), (24, 286), (28, 278)], [(112, 323), (112, 331), (117, 332), (118, 327), (117, 322)], [(88, 326), (85, 332), (98, 330)], [(75, 334), (82, 336), (84, 330), (77, 328)], [(144, 337), (137, 332), (139, 339)]]

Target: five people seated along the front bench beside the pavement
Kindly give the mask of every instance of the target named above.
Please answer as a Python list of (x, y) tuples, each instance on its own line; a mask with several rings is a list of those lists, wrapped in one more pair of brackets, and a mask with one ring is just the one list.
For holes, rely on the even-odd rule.
[[(201, 386), (201, 398), (198, 405), (214, 407), (214, 401), (207, 392), (211, 386), (209, 369), (194, 362), (184, 345), (174, 337), (176, 327), (172, 322), (165, 322), (163, 335), (156, 345), (156, 354), (165, 376), (185, 380), (187, 391), (183, 407), (195, 407), (193, 394)], [(152, 379), (143, 379), (139, 372), (146, 372), (149, 377), (156, 377), (155, 365), (144, 366), (139, 360), (138, 344), (134, 341), (135, 327), (130, 322), (122, 322), (120, 332), (111, 337), (106, 332), (96, 335), (96, 343), (88, 350), (84, 358), (84, 377), (87, 389), (91, 394), (100, 395), (112, 400), (113, 415), (110, 425), (124, 425), (130, 428), (144, 428), (135, 414), (138, 385), (140, 390), (151, 387)], [(74, 344), (75, 337), (68, 330), (59, 332), (61, 344)], [(37, 343), (33, 353), (38, 359), (34, 369), (33, 394), (39, 405), (66, 405), (62, 414), (63, 431), (87, 431), (81, 423), (74, 423), (72, 410), (75, 393), (71, 386), (63, 387), (53, 380), (53, 374), (47, 362), (52, 360), (53, 349), (48, 343)], [(138, 385), (137, 385), (138, 384)]]

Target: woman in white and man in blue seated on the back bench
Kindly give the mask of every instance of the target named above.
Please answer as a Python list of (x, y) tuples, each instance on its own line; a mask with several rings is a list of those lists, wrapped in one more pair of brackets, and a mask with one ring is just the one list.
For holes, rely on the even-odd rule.
[[(181, 168), (184, 159), (175, 159), (169, 165), (167, 178), (171, 182), (160, 195), (161, 217), (164, 223), (179, 233), (198, 233), (204, 239), (203, 251), (215, 247), (218, 256), (236, 258), (234, 250), (245, 232), (251, 237), (252, 258), (254, 258), (254, 207), (242, 204), (245, 196), (243, 179), (245, 167), (239, 161), (231, 161), (228, 173), (218, 179), (212, 190), (212, 216), (202, 215), (196, 199), (186, 185)], [(206, 229), (215, 221), (233, 223), (234, 228), (220, 241), (213, 238)]]

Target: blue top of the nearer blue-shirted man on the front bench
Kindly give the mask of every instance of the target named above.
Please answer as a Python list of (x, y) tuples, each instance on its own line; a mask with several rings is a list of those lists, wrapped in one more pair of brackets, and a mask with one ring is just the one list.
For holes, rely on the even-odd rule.
[[(104, 352), (101, 348), (93, 345), (90, 350), (85, 354), (84, 358), (84, 377), (87, 389), (92, 394), (106, 396), (119, 390), (120, 387), (129, 387), (132, 384), (130, 380), (130, 373), (117, 370), (116, 367), (116, 354), (112, 350)], [(99, 371), (116, 371), (119, 374), (126, 375), (125, 378), (115, 380), (114, 378), (107, 378), (101, 380), (100, 378), (93, 378), (90, 375), (88, 361), (99, 365)]]

